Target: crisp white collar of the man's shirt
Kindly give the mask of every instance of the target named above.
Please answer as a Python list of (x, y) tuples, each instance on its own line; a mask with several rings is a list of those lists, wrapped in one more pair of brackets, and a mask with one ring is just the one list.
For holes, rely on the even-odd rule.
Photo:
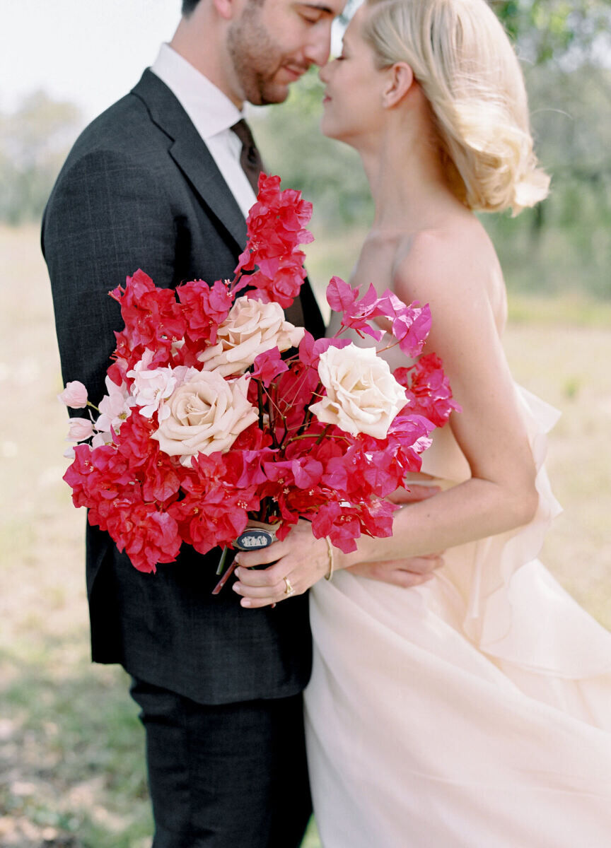
[(161, 45), (150, 70), (174, 93), (202, 138), (216, 136), (244, 118), (244, 110), (169, 44)]

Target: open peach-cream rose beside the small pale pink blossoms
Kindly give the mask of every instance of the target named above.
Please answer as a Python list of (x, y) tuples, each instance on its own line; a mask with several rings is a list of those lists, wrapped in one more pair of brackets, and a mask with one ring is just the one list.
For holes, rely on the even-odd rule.
[[(227, 381), (216, 371), (199, 371), (162, 402), (169, 413), (153, 433), (165, 454), (190, 466), (196, 454), (228, 450), (258, 418), (246, 397), (249, 377)], [(161, 418), (161, 416), (160, 416)]]

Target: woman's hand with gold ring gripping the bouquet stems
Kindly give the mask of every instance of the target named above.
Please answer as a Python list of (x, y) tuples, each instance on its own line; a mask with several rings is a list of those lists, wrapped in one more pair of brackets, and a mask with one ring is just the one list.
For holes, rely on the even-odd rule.
[[(334, 557), (341, 556), (334, 548)], [(277, 604), (294, 594), (303, 594), (329, 571), (328, 545), (314, 538), (310, 522), (297, 522), (287, 538), (261, 550), (240, 551), (233, 591), (242, 595), (240, 604), (249, 609)], [(269, 568), (254, 566), (273, 563)]]

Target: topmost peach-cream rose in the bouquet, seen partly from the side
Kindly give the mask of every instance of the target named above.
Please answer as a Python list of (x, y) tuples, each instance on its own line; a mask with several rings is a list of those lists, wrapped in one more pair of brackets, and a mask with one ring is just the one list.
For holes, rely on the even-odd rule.
[(238, 298), (218, 328), (217, 343), (202, 351), (198, 360), (205, 371), (216, 371), (222, 377), (240, 374), (266, 350), (296, 347), (304, 332), (302, 326), (284, 320), (279, 304)]

